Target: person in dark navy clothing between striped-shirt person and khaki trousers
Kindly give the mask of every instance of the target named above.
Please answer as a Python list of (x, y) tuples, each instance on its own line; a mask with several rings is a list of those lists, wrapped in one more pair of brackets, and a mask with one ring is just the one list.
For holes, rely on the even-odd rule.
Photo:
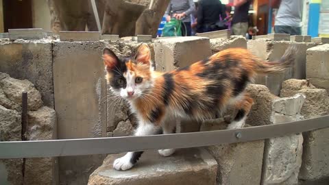
[(199, 0), (197, 9), (197, 32), (212, 32), (225, 29), (219, 17), (226, 18), (225, 10), (219, 0)]

